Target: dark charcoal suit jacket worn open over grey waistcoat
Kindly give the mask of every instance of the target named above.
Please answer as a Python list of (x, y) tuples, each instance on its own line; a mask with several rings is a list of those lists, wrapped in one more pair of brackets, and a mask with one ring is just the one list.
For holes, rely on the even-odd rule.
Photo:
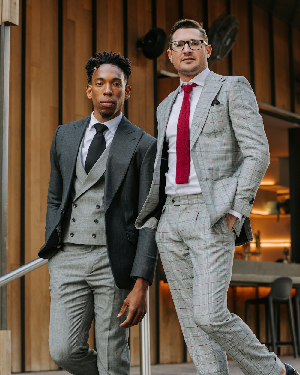
[[(51, 145), (45, 244), (39, 257), (59, 250), (57, 226), (68, 211), (77, 154), (90, 116), (58, 126)], [(157, 140), (123, 118), (115, 132), (105, 172), (105, 231), (108, 257), (118, 288), (132, 289), (134, 277), (153, 282), (157, 261), (154, 230), (136, 229), (135, 220), (153, 178)], [(99, 176), (100, 177), (100, 176)]]

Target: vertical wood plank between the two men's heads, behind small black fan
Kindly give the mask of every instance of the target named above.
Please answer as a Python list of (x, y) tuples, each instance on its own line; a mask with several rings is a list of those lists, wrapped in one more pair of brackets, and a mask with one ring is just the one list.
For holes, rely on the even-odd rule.
[(153, 61), (135, 48), (135, 40), (152, 28), (151, 0), (128, 1), (128, 58), (132, 61), (129, 84), (132, 92), (128, 101), (129, 120), (145, 132), (154, 134)]

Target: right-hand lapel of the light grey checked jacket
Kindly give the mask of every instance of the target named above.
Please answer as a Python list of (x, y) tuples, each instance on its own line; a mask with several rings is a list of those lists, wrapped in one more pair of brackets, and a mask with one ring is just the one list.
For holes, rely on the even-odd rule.
[(192, 150), (193, 145), (202, 131), (211, 103), (213, 102), (213, 99), (216, 97), (217, 93), (220, 91), (223, 81), (225, 81), (225, 78), (221, 75), (215, 74), (214, 72), (210, 72), (205, 80), (204, 87), (193, 116), (190, 131), (190, 150)]

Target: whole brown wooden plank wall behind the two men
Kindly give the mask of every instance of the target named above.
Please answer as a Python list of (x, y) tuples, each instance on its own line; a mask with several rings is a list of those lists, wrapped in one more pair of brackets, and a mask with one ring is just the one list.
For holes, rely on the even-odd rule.
[[(136, 51), (136, 38), (144, 36), (153, 26), (162, 27), (168, 36), (172, 25), (182, 17), (206, 20), (204, 28), (208, 30), (228, 9), (240, 20), (239, 35), (231, 55), (213, 64), (211, 69), (224, 75), (231, 71), (234, 75), (244, 75), (253, 85), (258, 101), (285, 110), (294, 107), (300, 114), (300, 78), (296, 81), (300, 77), (300, 31), (270, 17), (256, 5), (249, 12), (248, 0), (20, 2), (20, 26), (12, 27), (11, 32), (8, 270), (36, 258), (43, 244), (52, 135), (60, 121), (76, 120), (91, 113), (84, 70), (90, 56), (96, 50), (112, 50), (132, 61), (129, 80), (132, 95), (126, 113), (130, 121), (153, 135), (155, 108), (178, 86), (179, 80), (158, 78), (157, 84), (161, 69), (175, 72), (166, 53), (168, 46), (157, 58), (156, 75), (153, 61)], [(270, 23), (273, 34), (269, 31)], [(287, 43), (290, 36), (292, 52)], [(292, 71), (287, 58), (290, 55)], [(158, 87), (156, 93), (154, 83)], [(24, 291), (20, 285), (25, 285)], [(8, 287), (13, 372), (57, 368), (48, 350), (48, 287), (46, 267), (27, 275), (24, 284), (16, 281)], [(168, 285), (160, 287), (157, 296), (155, 286), (150, 288), (150, 301), (151, 362), (180, 362), (186, 356), (190, 360)], [(168, 312), (172, 320), (166, 318)], [(174, 335), (178, 345), (171, 349), (169, 340)], [(93, 335), (89, 342), (93, 346)], [(139, 363), (138, 342), (138, 327), (133, 327), (130, 329), (133, 365)], [(25, 348), (22, 343), (26, 343)]]

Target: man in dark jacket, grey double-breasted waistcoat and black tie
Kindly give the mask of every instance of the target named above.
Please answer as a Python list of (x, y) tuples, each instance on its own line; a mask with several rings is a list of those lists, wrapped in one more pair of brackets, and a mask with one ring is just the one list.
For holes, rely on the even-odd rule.
[[(71, 374), (129, 375), (128, 327), (146, 313), (157, 261), (154, 229), (134, 226), (150, 189), (157, 141), (121, 112), (131, 91), (127, 58), (99, 52), (86, 71), (94, 111), (60, 125), (51, 145), (39, 251), (49, 258), (49, 347)], [(96, 351), (87, 344), (94, 316)]]

